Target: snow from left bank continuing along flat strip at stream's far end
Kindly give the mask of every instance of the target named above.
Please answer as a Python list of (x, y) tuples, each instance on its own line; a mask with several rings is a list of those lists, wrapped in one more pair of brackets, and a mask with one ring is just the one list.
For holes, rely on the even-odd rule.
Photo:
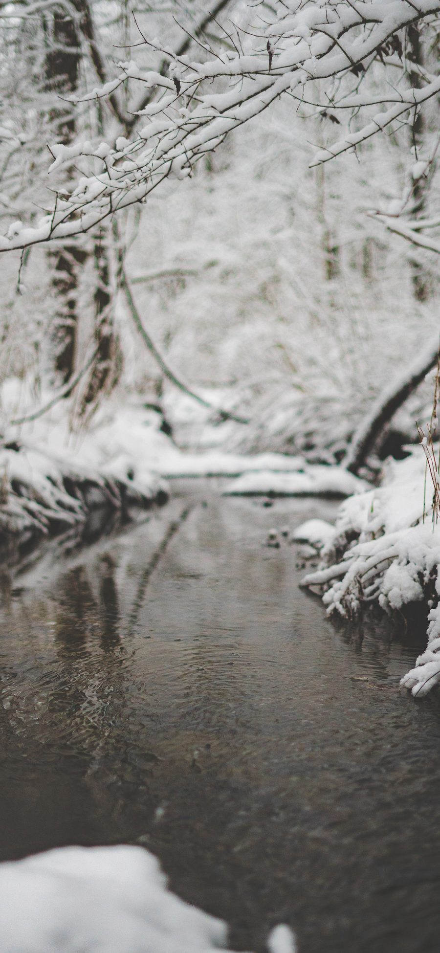
[[(38, 407), (49, 403), (49, 393), (40, 395)], [(39, 415), (27, 381), (5, 381), (0, 406), (0, 532), (6, 537), (68, 529), (96, 507), (144, 505), (166, 494), (161, 476), (241, 477), (230, 484), (232, 494), (347, 496), (364, 488), (341, 468), (310, 466), (302, 456), (183, 452), (164, 432), (160, 413), (121, 395), (104, 401), (87, 428), (75, 420), (74, 399)]]

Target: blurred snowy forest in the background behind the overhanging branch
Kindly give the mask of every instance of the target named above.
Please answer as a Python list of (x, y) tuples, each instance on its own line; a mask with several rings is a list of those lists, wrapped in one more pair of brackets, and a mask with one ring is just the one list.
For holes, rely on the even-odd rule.
[[(141, 102), (139, 90), (121, 87), (76, 107), (65, 96), (112, 79), (138, 28), (194, 56), (207, 39), (228, 46), (223, 28), (233, 33), (248, 11), (233, 0), (218, 8), (212, 18), (203, 3), (174, 0), (154, 10), (143, 0), (2, 5), (2, 233), (30, 206), (35, 218), (50, 208), (48, 183), (69, 189), (77, 175), (61, 169), (48, 180), (50, 143), (132, 135), (150, 92)], [(411, 83), (436, 74), (432, 25), (402, 39)], [(165, 68), (147, 46), (135, 53), (141, 66)], [(372, 91), (385, 70), (398, 82), (396, 54), (392, 69), (389, 59), (383, 51), (373, 64)], [(398, 370), (438, 327), (435, 252), (387, 227), (402, 214), (412, 225), (430, 218), (435, 238), (437, 129), (432, 100), (423, 119), (417, 112), (355, 154), (310, 169), (337, 117), (288, 97), (231, 133), (185, 182), (170, 180), (122, 213), (116, 237), (103, 224), (49, 252), (3, 255), (0, 380), (31, 379), (38, 398), (49, 382), (69, 385), (91, 355), (70, 400), (72, 424), (117, 385), (124, 399), (161, 401), (182, 440), (194, 440), (193, 417), (203, 442), (202, 412), (172, 389), (130, 321), (118, 282), (124, 255), (139, 313), (170, 366), (213, 403), (250, 417), (248, 427), (218, 428), (219, 442), (339, 458), (389, 381), (390, 361)]]

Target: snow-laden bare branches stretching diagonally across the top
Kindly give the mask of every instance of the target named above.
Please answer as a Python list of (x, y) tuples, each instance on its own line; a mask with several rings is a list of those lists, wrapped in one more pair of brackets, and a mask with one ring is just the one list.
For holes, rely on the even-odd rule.
[[(13, 222), (0, 237), (0, 251), (89, 232), (114, 213), (144, 202), (170, 175), (190, 175), (203, 155), (281, 95), (307, 102), (317, 90), (321, 109), (330, 107), (337, 123), (335, 111), (350, 111), (350, 130), (333, 146), (320, 149), (314, 163), (355, 151), (440, 91), (438, 77), (420, 75), (414, 88), (395, 90), (384, 60), (387, 55), (399, 61), (406, 28), (414, 23), (429, 27), (439, 13), (440, 0), (305, 0), (301, 5), (278, 0), (275, 10), (265, 8), (269, 20), (264, 23), (250, 8), (249, 29), (237, 28), (240, 42), (234, 49), (209, 50), (207, 57), (213, 58), (206, 61), (175, 54), (141, 34), (142, 44), (169, 61), (168, 74), (144, 71), (130, 60), (119, 64), (114, 79), (73, 101), (108, 98), (122, 85), (140, 84), (155, 98), (144, 112), (145, 126), (138, 130), (136, 125), (130, 139), (119, 136), (115, 143), (51, 146), (52, 172), (73, 161), (76, 167), (79, 160), (86, 173), (79, 177), (75, 172), (71, 193), (57, 193), (50, 213), (32, 227)], [(364, 78), (375, 59), (385, 72), (379, 93), (371, 97)], [(314, 95), (309, 97), (310, 83)], [(380, 104), (389, 108), (362, 118)]]

